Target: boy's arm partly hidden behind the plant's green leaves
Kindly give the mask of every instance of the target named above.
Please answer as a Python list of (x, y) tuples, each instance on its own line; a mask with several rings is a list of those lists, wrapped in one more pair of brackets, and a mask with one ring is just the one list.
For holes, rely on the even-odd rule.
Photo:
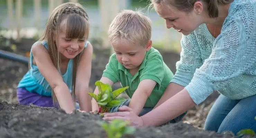
[[(109, 84), (111, 87), (112, 87), (113, 84), (114, 84), (112, 80), (110, 80), (110, 79), (107, 78), (107, 77), (103, 77), (103, 76), (101, 77), (100, 81), (101, 81), (102, 83)], [(96, 87), (96, 88), (94, 89), (94, 92), (93, 92), (93, 93), (96, 94), (96, 95), (99, 93), (98, 87)], [(94, 111), (99, 111), (99, 106), (98, 106), (97, 101), (96, 101), (94, 98), (92, 98), (91, 102), (92, 102), (92, 111), (93, 111), (93, 112), (94, 112)]]

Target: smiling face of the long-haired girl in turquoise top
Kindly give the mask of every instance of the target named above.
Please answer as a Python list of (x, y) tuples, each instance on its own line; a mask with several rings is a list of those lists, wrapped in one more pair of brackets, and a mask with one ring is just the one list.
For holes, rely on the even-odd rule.
[(81, 53), (85, 46), (85, 38), (67, 38), (66, 27), (60, 27), (59, 40), (58, 40), (58, 51), (67, 59), (75, 58)]

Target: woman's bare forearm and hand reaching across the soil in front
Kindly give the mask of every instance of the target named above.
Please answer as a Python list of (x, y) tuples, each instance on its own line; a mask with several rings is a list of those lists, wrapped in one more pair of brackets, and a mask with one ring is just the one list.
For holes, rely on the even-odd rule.
[(127, 106), (122, 106), (119, 112), (105, 113), (104, 120), (122, 119), (130, 121), (132, 126), (160, 126), (169, 120), (181, 115), (183, 112), (194, 107), (195, 103), (190, 98), (188, 91), (183, 89), (176, 95), (159, 105), (156, 109), (148, 112), (144, 116), (138, 117), (134, 110)]

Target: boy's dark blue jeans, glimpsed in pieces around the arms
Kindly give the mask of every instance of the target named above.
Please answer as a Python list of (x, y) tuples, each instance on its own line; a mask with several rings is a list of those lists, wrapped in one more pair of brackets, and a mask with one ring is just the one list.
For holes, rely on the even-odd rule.
[[(125, 102), (122, 102), (119, 106), (117, 107), (113, 107), (110, 109), (110, 112), (117, 112), (118, 111), (118, 108), (121, 107), (121, 106), (129, 106), (129, 103), (130, 103), (130, 99), (127, 99)], [(151, 110), (153, 109), (153, 107), (144, 107), (139, 116), (143, 116), (145, 114), (147, 114), (148, 112), (150, 112)], [(182, 121), (182, 118), (186, 115), (187, 111), (184, 112), (182, 115), (168, 121), (166, 124), (169, 124), (169, 123), (176, 123), (176, 122), (179, 122), (179, 121)]]

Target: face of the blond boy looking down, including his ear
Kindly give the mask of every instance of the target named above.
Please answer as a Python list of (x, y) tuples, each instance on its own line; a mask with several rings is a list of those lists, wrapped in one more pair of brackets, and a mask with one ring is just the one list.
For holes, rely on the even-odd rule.
[(152, 41), (150, 40), (146, 47), (131, 45), (128, 43), (112, 43), (115, 50), (116, 57), (119, 63), (126, 69), (139, 69), (140, 64), (144, 60), (146, 51), (152, 47)]

